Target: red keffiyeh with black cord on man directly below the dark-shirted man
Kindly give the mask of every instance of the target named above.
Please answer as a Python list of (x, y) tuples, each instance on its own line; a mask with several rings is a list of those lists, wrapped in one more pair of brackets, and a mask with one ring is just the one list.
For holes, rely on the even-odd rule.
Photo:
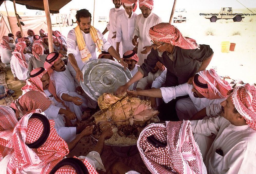
[(232, 87), (229, 86), (227, 81), (221, 80), (214, 69), (203, 70), (197, 74), (199, 75), (198, 81), (202, 84), (207, 84), (208, 86), (208, 88), (201, 88), (196, 85), (195, 79), (193, 79), (193, 85), (195, 89), (204, 97), (210, 100), (228, 97), (227, 93), (232, 89)]

